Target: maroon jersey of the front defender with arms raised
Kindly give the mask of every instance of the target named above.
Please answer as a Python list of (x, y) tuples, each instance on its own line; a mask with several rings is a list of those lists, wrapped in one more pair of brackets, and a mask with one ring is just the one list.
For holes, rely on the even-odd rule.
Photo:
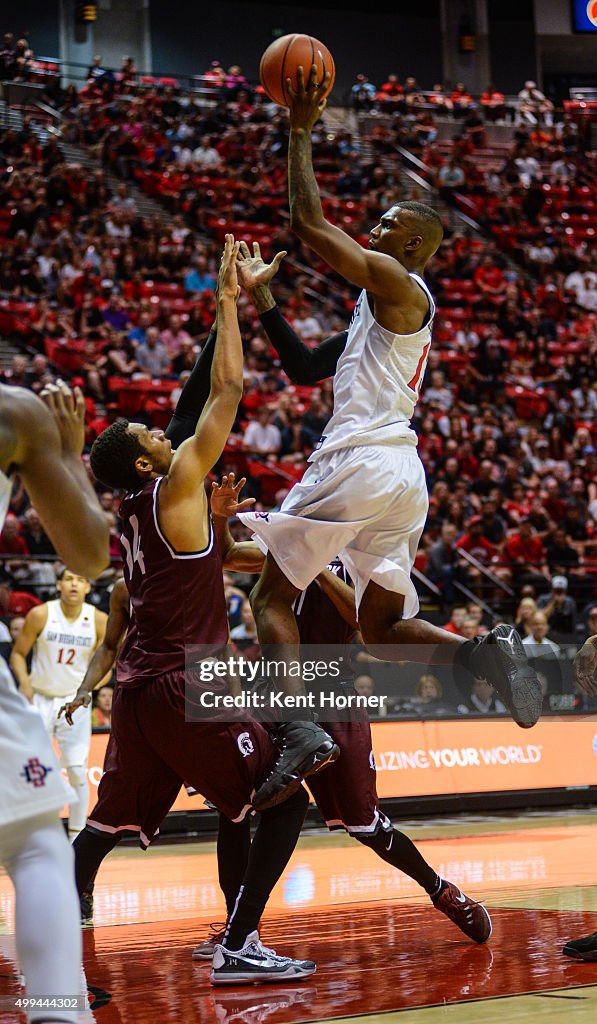
[(150, 480), (120, 506), (131, 602), (130, 626), (117, 662), (123, 686), (184, 669), (190, 645), (216, 651), (228, 639), (222, 562), (211, 520), (204, 551), (176, 552), (160, 526), (162, 480)]

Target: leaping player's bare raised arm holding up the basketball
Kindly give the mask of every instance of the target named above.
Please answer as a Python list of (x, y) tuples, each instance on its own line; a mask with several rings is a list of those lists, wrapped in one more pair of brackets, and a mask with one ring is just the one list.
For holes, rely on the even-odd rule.
[(290, 145), (288, 151), (288, 186), (290, 223), (303, 242), (347, 281), (366, 288), (372, 295), (396, 305), (417, 294), (408, 271), (385, 253), (369, 252), (349, 234), (324, 217), (319, 189), (313, 172), (311, 129), (326, 106), (322, 99), (330, 76), (317, 85), (313, 66), (305, 84), (301, 68), (297, 71), (297, 90), (287, 79), (290, 97)]

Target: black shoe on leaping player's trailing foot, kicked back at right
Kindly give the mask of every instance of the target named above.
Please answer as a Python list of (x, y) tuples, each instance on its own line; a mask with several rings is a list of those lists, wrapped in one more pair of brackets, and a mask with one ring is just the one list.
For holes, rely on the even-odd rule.
[(469, 668), (475, 678), (486, 679), (495, 687), (521, 729), (530, 729), (539, 721), (541, 684), (513, 626), (502, 623), (481, 637)]

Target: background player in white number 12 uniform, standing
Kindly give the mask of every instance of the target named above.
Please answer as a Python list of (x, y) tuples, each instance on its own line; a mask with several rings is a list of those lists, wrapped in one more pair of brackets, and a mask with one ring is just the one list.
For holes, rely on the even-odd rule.
[[(43, 719), (46, 732), (55, 736), (60, 763), (73, 795), (69, 803), (69, 839), (73, 843), (85, 827), (89, 803), (87, 763), (91, 737), (91, 708), (83, 709), (73, 727), (58, 719), (87, 672), (93, 653), (103, 640), (108, 615), (85, 598), (89, 581), (62, 569), (56, 582), (59, 598), (32, 608), (10, 655), (18, 688)], [(33, 651), (31, 673), (27, 657)]]

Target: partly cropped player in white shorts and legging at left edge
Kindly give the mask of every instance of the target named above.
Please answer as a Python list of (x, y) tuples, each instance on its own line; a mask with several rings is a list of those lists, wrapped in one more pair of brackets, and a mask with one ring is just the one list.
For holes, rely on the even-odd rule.
[[(109, 562), (109, 530), (81, 460), (85, 403), (80, 391), (74, 400), (66, 386), (48, 390), (44, 406), (0, 385), (0, 525), (18, 473), (60, 558), (94, 577)], [(0, 766), (0, 863), (15, 890), (16, 951), (28, 996), (45, 1000), (29, 1020), (74, 1022), (77, 1010), (50, 1006), (81, 987), (73, 851), (58, 820), (68, 788), (40, 716), (1, 658)]]

